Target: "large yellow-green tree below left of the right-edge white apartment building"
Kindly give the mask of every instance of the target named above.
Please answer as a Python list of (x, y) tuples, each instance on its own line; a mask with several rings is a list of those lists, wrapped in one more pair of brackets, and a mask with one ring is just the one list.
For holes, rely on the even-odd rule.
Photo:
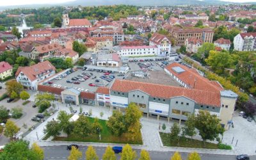
[(225, 68), (232, 65), (232, 57), (228, 52), (210, 51), (209, 57), (205, 60), (216, 74), (223, 74)]

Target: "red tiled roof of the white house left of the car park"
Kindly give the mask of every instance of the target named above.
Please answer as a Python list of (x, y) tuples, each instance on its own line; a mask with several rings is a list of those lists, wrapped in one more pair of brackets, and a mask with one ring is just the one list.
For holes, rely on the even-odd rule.
[(49, 62), (43, 61), (32, 65), (30, 67), (19, 67), (15, 76), (19, 76), (20, 72), (25, 74), (31, 81), (36, 79), (38, 74), (44, 74), (46, 70), (56, 70), (56, 68)]

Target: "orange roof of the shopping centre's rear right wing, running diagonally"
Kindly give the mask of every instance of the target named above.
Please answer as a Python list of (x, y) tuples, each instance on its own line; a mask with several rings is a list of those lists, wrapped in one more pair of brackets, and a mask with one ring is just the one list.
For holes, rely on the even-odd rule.
[[(177, 73), (175, 70), (173, 70), (173, 67), (180, 67), (184, 70), (184, 72)], [(218, 93), (223, 90), (219, 83), (212, 83), (212, 81), (209, 81), (209, 79), (200, 76), (195, 69), (188, 68), (184, 65), (180, 65), (179, 63), (172, 63), (165, 68), (175, 77), (178, 77), (182, 82), (190, 86), (190, 88)]]

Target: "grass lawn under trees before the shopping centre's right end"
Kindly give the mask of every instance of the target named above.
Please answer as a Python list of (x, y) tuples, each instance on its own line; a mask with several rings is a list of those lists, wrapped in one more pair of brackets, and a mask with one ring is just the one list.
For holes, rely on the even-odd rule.
[(188, 148), (207, 148), (207, 149), (218, 149), (218, 144), (215, 143), (205, 143), (205, 147), (202, 141), (199, 140), (191, 140), (190, 138), (182, 138), (180, 137), (180, 143), (170, 141), (170, 138), (167, 133), (159, 132), (163, 145), (168, 147), (188, 147)]

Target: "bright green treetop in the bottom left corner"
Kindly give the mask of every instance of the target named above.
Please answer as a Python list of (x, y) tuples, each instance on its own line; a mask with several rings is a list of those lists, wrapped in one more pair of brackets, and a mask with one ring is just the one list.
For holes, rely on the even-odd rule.
[(35, 159), (42, 160), (35, 150), (29, 149), (28, 141), (11, 141), (7, 143), (0, 154), (0, 159)]

